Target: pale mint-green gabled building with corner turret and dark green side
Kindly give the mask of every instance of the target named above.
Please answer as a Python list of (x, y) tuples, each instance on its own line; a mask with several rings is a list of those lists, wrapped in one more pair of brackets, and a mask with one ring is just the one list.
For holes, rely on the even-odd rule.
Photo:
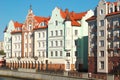
[[(52, 11), (48, 23), (48, 63), (51, 69), (69, 71), (87, 68), (84, 58), (88, 49), (88, 24), (85, 20), (92, 15), (91, 10), (75, 13), (56, 7)], [(83, 45), (85, 43), (86, 46)]]

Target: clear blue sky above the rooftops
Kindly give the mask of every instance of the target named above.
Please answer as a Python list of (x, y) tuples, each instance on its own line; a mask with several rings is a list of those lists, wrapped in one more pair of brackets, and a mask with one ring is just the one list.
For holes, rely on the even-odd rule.
[[(116, 0), (106, 0), (116, 1)], [(52, 10), (59, 7), (63, 10), (83, 12), (94, 10), (99, 0), (1, 0), (0, 2), (0, 41), (4, 40), (4, 29), (10, 20), (23, 23), (30, 5), (37, 16), (51, 16)]]

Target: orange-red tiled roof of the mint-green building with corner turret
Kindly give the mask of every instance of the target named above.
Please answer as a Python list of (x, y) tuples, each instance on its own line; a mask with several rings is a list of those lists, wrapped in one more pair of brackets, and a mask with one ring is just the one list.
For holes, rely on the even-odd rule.
[(81, 20), (83, 16), (87, 14), (87, 12), (75, 13), (69, 12), (68, 9), (62, 11), (60, 9), (60, 14), (63, 19), (66, 19), (69, 16), (69, 20), (71, 21), (72, 26), (80, 26), (81, 24), (77, 22), (77, 20)]

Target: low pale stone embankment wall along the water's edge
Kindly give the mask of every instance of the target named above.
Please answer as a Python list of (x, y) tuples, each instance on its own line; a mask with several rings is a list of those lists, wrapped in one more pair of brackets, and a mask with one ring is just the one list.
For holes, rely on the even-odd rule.
[(47, 73), (36, 73), (36, 72), (29, 73), (29, 72), (18, 72), (11, 70), (0, 70), (0, 75), (8, 76), (8, 77), (26, 78), (32, 80), (87, 80), (87, 79), (80, 79), (74, 77), (52, 75)]

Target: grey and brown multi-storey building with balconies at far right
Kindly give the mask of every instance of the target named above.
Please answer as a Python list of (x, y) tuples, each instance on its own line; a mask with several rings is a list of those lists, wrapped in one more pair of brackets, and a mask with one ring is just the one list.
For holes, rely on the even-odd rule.
[(100, 0), (89, 18), (88, 66), (92, 73), (115, 73), (118, 70), (120, 2)]

